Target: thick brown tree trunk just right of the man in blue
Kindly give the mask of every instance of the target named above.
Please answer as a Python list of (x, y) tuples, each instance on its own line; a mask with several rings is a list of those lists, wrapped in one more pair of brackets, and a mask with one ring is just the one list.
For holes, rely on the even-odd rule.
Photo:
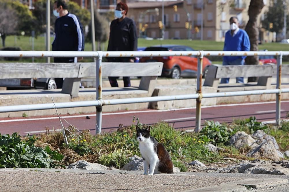
[[(250, 51), (258, 51), (258, 40), (259, 40), (259, 28), (257, 26), (257, 17), (261, 13), (264, 7), (263, 0), (251, 0), (248, 10), (249, 21), (245, 27), (245, 31), (248, 33), (250, 38)], [(259, 56), (249, 56), (246, 58), (246, 64), (257, 65), (259, 64)], [(249, 77), (248, 82), (257, 81), (256, 77)]]

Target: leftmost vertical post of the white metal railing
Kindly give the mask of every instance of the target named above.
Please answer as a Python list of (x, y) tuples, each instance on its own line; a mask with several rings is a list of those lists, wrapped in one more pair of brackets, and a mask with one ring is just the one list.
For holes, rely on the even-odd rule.
[[(98, 52), (98, 58), (96, 60), (96, 100), (100, 100), (101, 104), (103, 104), (102, 100), (102, 75), (101, 75), (101, 62), (102, 62), (102, 51)], [(101, 122), (102, 121), (102, 105), (96, 107), (96, 126), (95, 133), (101, 134)]]

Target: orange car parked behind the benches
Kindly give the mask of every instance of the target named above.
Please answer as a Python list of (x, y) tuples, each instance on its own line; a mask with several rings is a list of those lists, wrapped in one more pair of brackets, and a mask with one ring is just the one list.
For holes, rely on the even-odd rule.
[[(194, 51), (183, 45), (158, 45), (147, 47), (144, 51)], [(197, 77), (198, 58), (195, 56), (143, 57), (140, 62), (163, 62), (162, 76), (179, 79), (180, 77)], [(203, 75), (212, 62), (203, 58)]]

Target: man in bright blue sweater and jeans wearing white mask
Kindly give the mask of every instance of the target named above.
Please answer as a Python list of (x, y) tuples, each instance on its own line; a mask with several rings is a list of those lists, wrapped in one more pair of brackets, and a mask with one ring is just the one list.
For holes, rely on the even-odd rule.
[[(224, 51), (250, 51), (247, 32), (239, 28), (237, 17), (230, 18), (230, 30), (225, 34)], [(224, 56), (223, 65), (244, 65), (246, 56)], [(222, 78), (221, 83), (229, 83), (229, 78)], [(236, 83), (244, 83), (243, 77), (237, 77)]]

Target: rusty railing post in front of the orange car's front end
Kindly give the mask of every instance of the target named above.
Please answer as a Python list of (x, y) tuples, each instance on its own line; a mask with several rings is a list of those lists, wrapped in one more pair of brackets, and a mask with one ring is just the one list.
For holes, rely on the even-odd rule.
[(204, 56), (203, 51), (200, 51), (200, 56), (198, 56), (198, 74), (197, 74), (197, 94), (199, 94), (199, 98), (196, 99), (196, 128), (195, 128), (195, 132), (199, 132), (201, 130), (203, 56)]

